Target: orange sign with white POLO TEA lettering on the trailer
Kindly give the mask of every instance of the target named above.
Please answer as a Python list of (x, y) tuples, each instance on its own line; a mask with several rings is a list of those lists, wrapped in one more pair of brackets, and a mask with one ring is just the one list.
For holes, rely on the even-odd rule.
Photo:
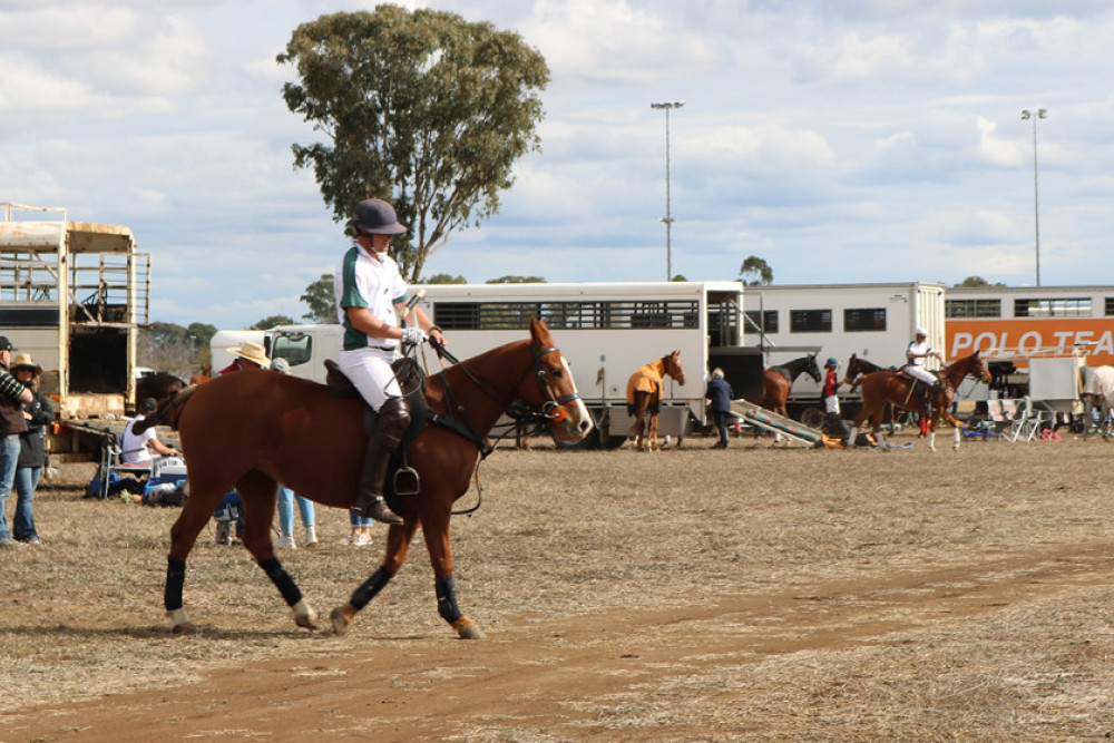
[(948, 320), (949, 360), (975, 351), (999, 356), (1069, 356), (1076, 349), (1088, 366), (1114, 363), (1114, 317)]

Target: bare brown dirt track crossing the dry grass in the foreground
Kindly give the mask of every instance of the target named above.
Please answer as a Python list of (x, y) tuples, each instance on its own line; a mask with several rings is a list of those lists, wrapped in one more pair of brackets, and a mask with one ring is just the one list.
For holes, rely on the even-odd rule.
[[(0, 718), (0, 739), (413, 741), (526, 730), (613, 740), (616, 731), (598, 726), (592, 710), (600, 697), (771, 655), (885, 643), (896, 630), (962, 623), (1112, 579), (1114, 545), (1048, 545), (680, 608), (522, 620), (478, 643), (458, 642), (448, 632), (381, 637), (351, 655), (253, 663), (212, 673), (196, 685), (11, 712)], [(668, 735), (696, 732), (673, 727)], [(624, 730), (623, 737), (661, 740), (661, 731)]]

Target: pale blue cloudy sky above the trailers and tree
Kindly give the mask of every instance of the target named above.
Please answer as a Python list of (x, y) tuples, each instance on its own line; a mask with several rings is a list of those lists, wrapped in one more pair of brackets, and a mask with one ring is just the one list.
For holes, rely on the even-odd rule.
[[(426, 274), (482, 282), (1114, 283), (1114, 6), (1098, 0), (400, 2), (519, 32), (549, 63), (543, 149)], [(125, 224), (152, 319), (305, 312), (345, 247), (290, 146), (274, 61), (373, 3), (0, 0), (0, 201)]]

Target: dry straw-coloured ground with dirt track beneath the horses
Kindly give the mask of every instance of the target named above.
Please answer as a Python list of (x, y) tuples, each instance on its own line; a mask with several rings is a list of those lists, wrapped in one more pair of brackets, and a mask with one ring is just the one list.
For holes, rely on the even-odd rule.
[[(212, 531), (199, 630), (172, 635), (177, 510), (81, 500), (91, 472), (67, 468), (45, 544), (0, 553), (0, 741), (1108, 739), (1114, 443), (898, 441), (499, 450), (453, 522), (485, 641), (438, 617), (420, 540), (338, 637)], [(328, 614), (382, 531), (355, 548), (346, 514), (317, 521), (278, 556)]]

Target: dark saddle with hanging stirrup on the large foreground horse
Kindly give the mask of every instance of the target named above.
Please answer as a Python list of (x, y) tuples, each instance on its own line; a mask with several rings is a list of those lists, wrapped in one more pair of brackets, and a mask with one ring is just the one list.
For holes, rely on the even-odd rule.
[[(429, 404), (426, 402), (426, 374), (418, 362), (409, 356), (395, 359), (391, 363), (394, 379), (402, 388), (402, 398), (410, 405), (410, 426), (402, 434), (402, 441), (398, 449), (391, 452), (390, 465), (387, 468), (387, 482), (383, 487), (383, 497), (387, 505), (395, 514), (402, 512), (402, 498), (417, 496), (421, 491), (421, 478), (418, 470), (410, 467), (409, 447), (410, 442), (426, 429), (429, 423)], [(352, 384), (352, 380), (344, 375), (340, 366), (332, 359), (325, 359), (325, 387), (342, 398), (354, 398), (362, 400), (360, 391)], [(371, 405), (363, 405), (363, 431), (371, 434), (379, 421), (379, 413)]]

